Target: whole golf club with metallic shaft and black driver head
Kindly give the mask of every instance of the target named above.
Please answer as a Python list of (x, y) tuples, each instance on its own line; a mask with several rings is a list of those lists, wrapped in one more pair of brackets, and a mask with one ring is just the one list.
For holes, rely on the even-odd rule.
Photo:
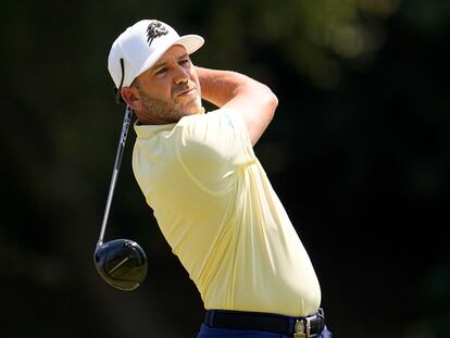
[(103, 214), (103, 222), (93, 254), (93, 262), (100, 276), (112, 287), (125, 291), (136, 289), (146, 278), (148, 270), (146, 253), (142, 248), (133, 240), (122, 238), (103, 243), (103, 237), (115, 190), (118, 170), (121, 167), (126, 137), (132, 121), (132, 108), (126, 105), (121, 138), (118, 140), (114, 168), (111, 177), (110, 190), (108, 192), (107, 206)]

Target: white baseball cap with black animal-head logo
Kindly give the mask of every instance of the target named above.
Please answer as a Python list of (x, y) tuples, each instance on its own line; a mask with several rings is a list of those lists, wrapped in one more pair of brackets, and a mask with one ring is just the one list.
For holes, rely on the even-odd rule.
[(137, 76), (149, 70), (172, 46), (182, 45), (190, 54), (203, 43), (201, 36), (180, 37), (165, 23), (142, 20), (115, 39), (108, 57), (108, 70), (116, 88), (129, 87)]

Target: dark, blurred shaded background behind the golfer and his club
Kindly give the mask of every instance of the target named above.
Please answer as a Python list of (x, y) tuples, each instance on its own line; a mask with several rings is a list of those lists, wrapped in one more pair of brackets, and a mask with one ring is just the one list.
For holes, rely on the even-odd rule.
[(121, 292), (92, 263), (123, 117), (107, 58), (140, 18), (202, 35), (196, 64), (278, 96), (255, 152), (336, 337), (450, 337), (447, 0), (2, 3), (0, 335), (197, 333), (200, 297), (130, 171), (134, 133), (107, 239), (137, 240), (149, 276)]

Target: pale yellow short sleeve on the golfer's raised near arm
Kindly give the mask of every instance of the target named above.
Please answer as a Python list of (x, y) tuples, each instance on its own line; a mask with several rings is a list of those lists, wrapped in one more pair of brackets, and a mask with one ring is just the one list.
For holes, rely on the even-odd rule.
[(247, 127), (233, 110), (183, 117), (174, 134), (178, 161), (211, 193), (227, 190), (236, 171), (255, 162)]

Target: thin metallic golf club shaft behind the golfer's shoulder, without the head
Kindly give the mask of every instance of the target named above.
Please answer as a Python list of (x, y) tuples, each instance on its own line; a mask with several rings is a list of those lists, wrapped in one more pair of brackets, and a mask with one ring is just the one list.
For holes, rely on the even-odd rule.
[(103, 243), (104, 231), (107, 229), (108, 217), (110, 215), (111, 203), (115, 190), (115, 183), (117, 181), (118, 170), (121, 168), (122, 155), (124, 153), (126, 137), (128, 134), (129, 124), (132, 121), (132, 108), (126, 105), (124, 122), (122, 124), (121, 138), (118, 139), (117, 152), (115, 154), (114, 168), (111, 177), (110, 191), (108, 192), (107, 206), (104, 208), (103, 222), (101, 224), (100, 237), (97, 246)]

